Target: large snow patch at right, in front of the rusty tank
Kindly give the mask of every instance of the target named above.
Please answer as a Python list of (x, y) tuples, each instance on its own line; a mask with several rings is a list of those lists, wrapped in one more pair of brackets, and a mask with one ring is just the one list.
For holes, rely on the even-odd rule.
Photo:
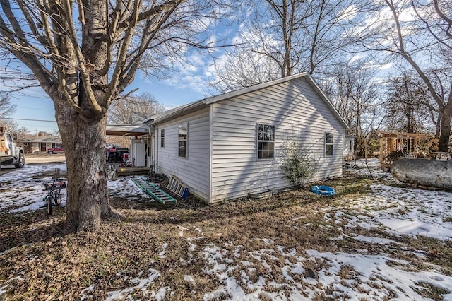
[[(372, 184), (370, 189), (369, 195), (339, 199), (343, 206), (334, 213), (335, 223), (367, 230), (380, 225), (390, 229), (391, 235), (452, 239), (452, 223), (444, 222), (451, 215), (451, 192), (385, 184)], [(326, 215), (326, 220), (329, 219), (331, 216)]]

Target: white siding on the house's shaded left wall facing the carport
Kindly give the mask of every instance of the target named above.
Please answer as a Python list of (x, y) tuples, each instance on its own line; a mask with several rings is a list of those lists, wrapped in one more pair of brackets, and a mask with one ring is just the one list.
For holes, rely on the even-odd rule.
[[(187, 158), (179, 157), (180, 124), (188, 124)], [(165, 148), (157, 149), (157, 172), (179, 177), (190, 188), (191, 193), (208, 200), (210, 182), (208, 108), (159, 124), (157, 127), (165, 128)]]

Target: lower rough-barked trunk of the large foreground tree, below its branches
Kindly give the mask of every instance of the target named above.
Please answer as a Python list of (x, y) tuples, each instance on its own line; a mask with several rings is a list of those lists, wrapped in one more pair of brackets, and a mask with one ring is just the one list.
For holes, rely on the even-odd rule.
[(60, 102), (55, 102), (55, 112), (66, 153), (66, 228), (95, 230), (101, 216), (112, 216), (105, 170), (107, 117), (87, 119)]

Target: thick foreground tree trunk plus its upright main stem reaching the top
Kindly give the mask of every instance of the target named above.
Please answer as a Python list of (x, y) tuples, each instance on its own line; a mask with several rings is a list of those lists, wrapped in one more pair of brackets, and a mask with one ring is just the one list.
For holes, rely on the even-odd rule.
[[(85, 19), (83, 26), (82, 49), (87, 61), (93, 69), (102, 69), (107, 61), (107, 13), (106, 1), (83, 0)], [(97, 74), (90, 79), (91, 89), (98, 104), (105, 103), (107, 73)], [(93, 84), (95, 83), (95, 84)], [(93, 107), (90, 97), (78, 82), (78, 106), (90, 111)], [(64, 112), (70, 116), (71, 124), (57, 119), (62, 141), (66, 151), (68, 169), (68, 201), (66, 208), (66, 228), (74, 230), (95, 230), (100, 226), (100, 218), (109, 218), (112, 210), (109, 206), (107, 190), (107, 158), (105, 156), (105, 130), (107, 114), (94, 112), (89, 118), (70, 111), (69, 107), (57, 108), (56, 112)]]

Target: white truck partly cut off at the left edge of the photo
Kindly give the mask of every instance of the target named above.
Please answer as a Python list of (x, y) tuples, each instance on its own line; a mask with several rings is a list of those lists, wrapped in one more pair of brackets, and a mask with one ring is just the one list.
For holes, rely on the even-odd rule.
[(17, 136), (11, 136), (5, 126), (0, 126), (0, 165), (14, 165), (16, 168), (25, 165), (23, 148), (16, 146), (16, 139)]

